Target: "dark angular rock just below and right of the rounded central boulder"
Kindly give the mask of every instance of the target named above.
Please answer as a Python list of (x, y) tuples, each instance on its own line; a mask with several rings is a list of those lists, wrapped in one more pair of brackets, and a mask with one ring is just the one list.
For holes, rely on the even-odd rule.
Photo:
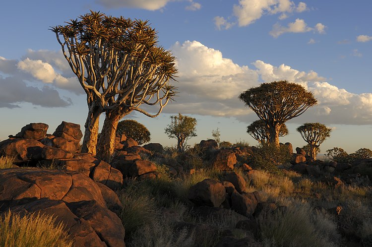
[(256, 206), (257, 199), (253, 193), (232, 193), (231, 195), (231, 209), (244, 216), (251, 216)]

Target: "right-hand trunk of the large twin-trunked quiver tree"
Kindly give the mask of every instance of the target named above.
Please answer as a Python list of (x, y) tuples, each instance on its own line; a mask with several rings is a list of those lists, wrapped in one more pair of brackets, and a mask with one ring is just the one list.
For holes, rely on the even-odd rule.
[(119, 121), (129, 112), (121, 113), (120, 110), (106, 112), (105, 122), (102, 127), (98, 142), (97, 158), (109, 163), (115, 149), (116, 128)]

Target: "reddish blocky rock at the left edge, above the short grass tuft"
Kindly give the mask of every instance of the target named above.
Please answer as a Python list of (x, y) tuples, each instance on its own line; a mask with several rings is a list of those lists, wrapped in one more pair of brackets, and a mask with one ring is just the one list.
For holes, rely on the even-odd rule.
[(10, 138), (0, 142), (0, 156), (15, 157), (14, 162), (40, 160), (43, 147), (35, 139)]

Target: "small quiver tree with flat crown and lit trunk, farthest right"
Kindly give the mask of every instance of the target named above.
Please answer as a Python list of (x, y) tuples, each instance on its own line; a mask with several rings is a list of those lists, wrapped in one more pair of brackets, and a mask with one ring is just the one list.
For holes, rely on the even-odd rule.
[(330, 136), (332, 129), (324, 124), (306, 123), (296, 129), (310, 146), (310, 157), (316, 159), (316, 148)]

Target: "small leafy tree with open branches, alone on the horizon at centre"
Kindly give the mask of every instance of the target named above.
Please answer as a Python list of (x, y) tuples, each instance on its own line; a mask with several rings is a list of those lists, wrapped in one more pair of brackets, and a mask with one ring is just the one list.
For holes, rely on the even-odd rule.
[(171, 116), (171, 124), (165, 128), (165, 133), (169, 138), (177, 138), (177, 149), (185, 151), (187, 140), (196, 136), (196, 119), (184, 116), (179, 113)]

